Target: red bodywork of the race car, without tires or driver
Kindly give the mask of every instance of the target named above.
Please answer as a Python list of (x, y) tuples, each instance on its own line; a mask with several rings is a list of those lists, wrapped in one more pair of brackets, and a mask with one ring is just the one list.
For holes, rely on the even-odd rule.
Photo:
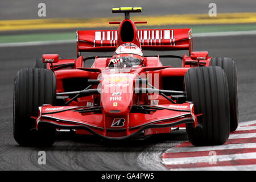
[[(135, 23), (124, 19), (118, 30), (77, 31), (78, 58), (47, 63), (47, 69), (56, 76), (57, 100), (68, 104), (40, 106), (37, 128), (40, 123), (47, 123), (57, 129), (76, 130), (77, 134), (126, 139), (139, 134), (170, 133), (172, 127), (184, 127), (185, 123), (197, 125), (193, 103), (172, 103), (158, 92), (143, 93), (139, 88), (153, 85), (160, 90), (178, 88), (184, 92), (185, 73), (191, 67), (208, 66), (208, 52), (193, 52), (191, 29), (137, 30)], [(108, 68), (111, 57), (96, 57), (92, 67), (84, 68), (86, 57), (80, 56), (81, 52), (114, 52), (127, 42), (137, 44), (142, 51), (188, 49), (190, 56), (181, 57), (181, 68), (163, 67), (160, 56), (144, 57), (143, 65), (137, 68)], [(44, 57), (56, 60), (56, 55)], [(147, 81), (139, 82), (142, 78)], [(74, 95), (68, 97), (65, 93), (76, 91), (76, 79), (79, 88), (91, 85), (90, 89), (97, 92), (70, 101)], [(97, 84), (90, 84), (90, 80), (97, 80)], [(172, 99), (177, 102), (175, 97)]]

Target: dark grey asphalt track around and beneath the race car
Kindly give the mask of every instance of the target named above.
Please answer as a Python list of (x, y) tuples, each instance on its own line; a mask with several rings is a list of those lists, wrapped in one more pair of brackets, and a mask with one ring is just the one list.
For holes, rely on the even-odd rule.
[[(256, 42), (253, 40), (255, 35), (194, 39), (195, 51), (209, 51), (216, 57), (232, 57), (236, 62), (240, 123), (256, 119)], [(0, 48), (0, 170), (167, 169), (160, 164), (160, 155), (187, 140), (184, 130), (127, 142), (106, 142), (94, 137), (60, 134), (49, 148), (20, 147), (13, 138), (14, 77), (20, 68), (31, 68), (35, 59), (43, 53), (59, 53), (64, 58), (75, 58), (76, 46), (58, 44)], [(177, 53), (181, 55), (181, 52)], [(163, 60), (164, 65), (170, 63), (180, 64), (177, 60)], [(46, 152), (45, 165), (38, 164), (38, 152), (42, 150)]]

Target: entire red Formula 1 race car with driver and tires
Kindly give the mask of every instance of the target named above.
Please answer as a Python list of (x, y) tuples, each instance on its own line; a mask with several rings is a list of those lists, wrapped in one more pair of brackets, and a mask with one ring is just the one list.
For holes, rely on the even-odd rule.
[[(118, 30), (77, 31), (77, 59), (43, 55), (35, 68), (21, 69), (14, 81), (14, 138), (22, 145), (51, 146), (56, 130), (122, 140), (170, 133), (186, 127), (196, 146), (223, 144), (238, 126), (234, 61), (193, 52), (191, 29), (138, 30), (130, 13)], [(189, 56), (144, 56), (144, 50), (188, 49)], [(92, 57), (81, 52), (114, 52)], [(182, 67), (160, 59), (179, 58)]]

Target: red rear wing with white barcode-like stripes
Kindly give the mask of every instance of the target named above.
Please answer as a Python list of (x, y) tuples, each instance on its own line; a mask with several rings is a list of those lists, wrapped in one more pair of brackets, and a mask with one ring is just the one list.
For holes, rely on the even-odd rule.
[[(77, 31), (77, 55), (80, 52), (109, 52), (117, 48), (118, 30)], [(193, 51), (190, 28), (137, 30), (142, 50), (171, 51), (188, 49)]]

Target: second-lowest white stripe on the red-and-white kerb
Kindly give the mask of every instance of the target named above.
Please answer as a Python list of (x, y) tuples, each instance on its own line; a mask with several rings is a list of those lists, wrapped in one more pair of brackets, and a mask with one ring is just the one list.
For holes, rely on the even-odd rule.
[[(211, 155), (192, 157), (192, 158), (171, 158), (171, 159), (163, 158), (163, 164), (175, 165), (175, 164), (207, 163), (211, 159), (212, 159)], [(256, 159), (256, 152), (214, 156), (214, 160), (216, 160), (216, 162), (223, 162), (223, 161), (229, 161), (229, 160), (241, 160), (241, 159)]]

